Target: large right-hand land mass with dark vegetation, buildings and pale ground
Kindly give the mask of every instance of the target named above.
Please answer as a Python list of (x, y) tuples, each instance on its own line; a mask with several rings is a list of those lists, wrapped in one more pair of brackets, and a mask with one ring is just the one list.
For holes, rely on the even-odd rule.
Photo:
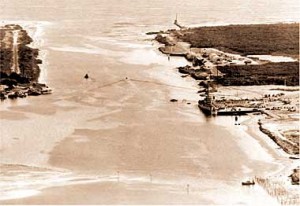
[[(200, 99), (210, 93), (219, 107), (257, 109), (260, 113), (252, 118), (259, 130), (291, 160), (299, 159), (298, 23), (184, 28), (159, 32), (155, 39), (169, 59), (182, 56), (191, 62), (177, 69), (183, 78), (191, 76), (205, 87), (198, 91)], [(299, 184), (299, 165), (293, 167), (291, 183)], [(272, 192), (278, 190), (277, 180), (256, 182), (278, 198)], [(284, 183), (278, 185), (286, 199), (297, 196)]]

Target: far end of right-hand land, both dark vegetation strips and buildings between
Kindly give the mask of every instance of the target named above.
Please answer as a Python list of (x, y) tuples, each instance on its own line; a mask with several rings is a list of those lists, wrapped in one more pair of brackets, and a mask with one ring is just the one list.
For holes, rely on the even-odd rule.
[[(194, 66), (200, 66), (186, 72), (195, 79), (210, 76), (227, 86), (299, 85), (299, 24), (296, 23), (169, 30), (155, 39), (165, 45), (159, 48), (161, 52), (184, 56)], [(275, 61), (265, 60), (264, 56)]]

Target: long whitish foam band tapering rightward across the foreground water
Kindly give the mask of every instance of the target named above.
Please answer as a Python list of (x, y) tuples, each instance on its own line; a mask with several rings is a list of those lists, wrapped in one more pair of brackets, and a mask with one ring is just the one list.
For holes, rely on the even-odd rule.
[[(0, 165), (0, 201), (26, 198), (41, 193), (43, 189), (101, 182), (122, 182), (126, 184), (153, 183), (167, 188), (181, 187), (187, 180), (162, 179), (160, 174), (111, 174), (107, 176), (81, 175), (56, 169), (30, 167), (25, 165)], [(152, 179), (153, 178), (153, 179)], [(214, 180), (201, 180), (214, 182)], [(149, 189), (149, 188), (147, 188)], [(181, 190), (181, 189), (180, 189)]]

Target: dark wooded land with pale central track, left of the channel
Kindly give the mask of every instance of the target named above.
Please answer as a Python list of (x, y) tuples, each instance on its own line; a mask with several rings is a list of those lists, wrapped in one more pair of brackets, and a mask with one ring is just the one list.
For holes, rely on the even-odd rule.
[(39, 50), (31, 48), (32, 38), (20, 25), (0, 27), (0, 98), (1, 100), (27, 95), (50, 93), (39, 84)]

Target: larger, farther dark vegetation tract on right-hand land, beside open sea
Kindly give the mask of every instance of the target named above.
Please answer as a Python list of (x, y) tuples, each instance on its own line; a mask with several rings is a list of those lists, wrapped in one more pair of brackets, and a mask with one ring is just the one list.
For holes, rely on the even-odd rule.
[(217, 48), (242, 55), (277, 54), (299, 58), (299, 24), (199, 27), (181, 30), (177, 38), (192, 47)]

